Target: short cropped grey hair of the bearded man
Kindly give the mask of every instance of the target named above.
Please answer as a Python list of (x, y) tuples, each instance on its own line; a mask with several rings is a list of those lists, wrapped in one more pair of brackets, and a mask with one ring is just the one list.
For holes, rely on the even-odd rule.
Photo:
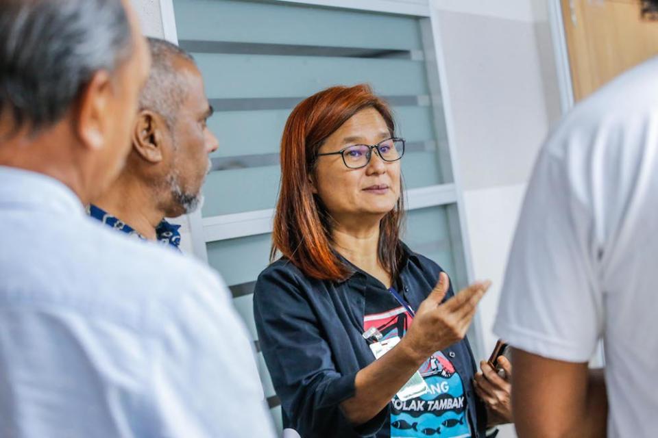
[(139, 96), (139, 108), (157, 112), (171, 129), (186, 92), (174, 61), (182, 59), (194, 62), (194, 59), (177, 45), (165, 40), (148, 38), (148, 44), (151, 51), (151, 73)]

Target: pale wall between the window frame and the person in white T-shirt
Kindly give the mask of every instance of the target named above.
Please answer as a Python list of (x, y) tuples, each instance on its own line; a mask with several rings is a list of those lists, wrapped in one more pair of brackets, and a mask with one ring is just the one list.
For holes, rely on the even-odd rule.
[[(479, 318), (488, 351), (528, 177), (559, 92), (546, 0), (434, 0), (474, 274), (493, 285)], [(483, 358), (484, 359), (484, 358)], [(500, 435), (514, 437), (512, 426)]]

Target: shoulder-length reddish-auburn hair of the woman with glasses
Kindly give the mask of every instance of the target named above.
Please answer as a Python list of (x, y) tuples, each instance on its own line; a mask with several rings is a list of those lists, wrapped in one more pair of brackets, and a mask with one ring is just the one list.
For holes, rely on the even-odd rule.
[[(313, 194), (311, 177), (320, 146), (365, 108), (377, 110), (391, 137), (395, 135), (389, 105), (364, 84), (327, 88), (304, 99), (290, 114), (281, 139), (281, 184), (274, 214), (271, 261), (279, 252), (304, 274), (322, 280), (340, 281), (351, 274), (352, 270), (332, 248), (332, 220), (321, 199)], [(400, 181), (398, 203), (380, 221), (378, 256), (393, 279), (398, 276), (402, 259), (402, 198)]]

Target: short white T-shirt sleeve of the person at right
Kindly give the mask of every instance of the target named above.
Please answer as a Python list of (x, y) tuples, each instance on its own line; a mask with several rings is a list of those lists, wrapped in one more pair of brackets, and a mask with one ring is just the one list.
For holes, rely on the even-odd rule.
[(602, 331), (591, 156), (585, 148), (570, 153), (580, 141), (558, 134), (541, 152), (493, 328), (515, 348), (571, 362), (589, 361)]

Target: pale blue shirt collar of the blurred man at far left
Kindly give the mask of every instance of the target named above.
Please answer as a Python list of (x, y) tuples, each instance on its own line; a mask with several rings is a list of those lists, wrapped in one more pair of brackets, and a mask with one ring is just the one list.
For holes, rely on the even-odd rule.
[(62, 181), (8, 166), (0, 166), (0, 205), (21, 205), (80, 216), (84, 214), (80, 198)]

